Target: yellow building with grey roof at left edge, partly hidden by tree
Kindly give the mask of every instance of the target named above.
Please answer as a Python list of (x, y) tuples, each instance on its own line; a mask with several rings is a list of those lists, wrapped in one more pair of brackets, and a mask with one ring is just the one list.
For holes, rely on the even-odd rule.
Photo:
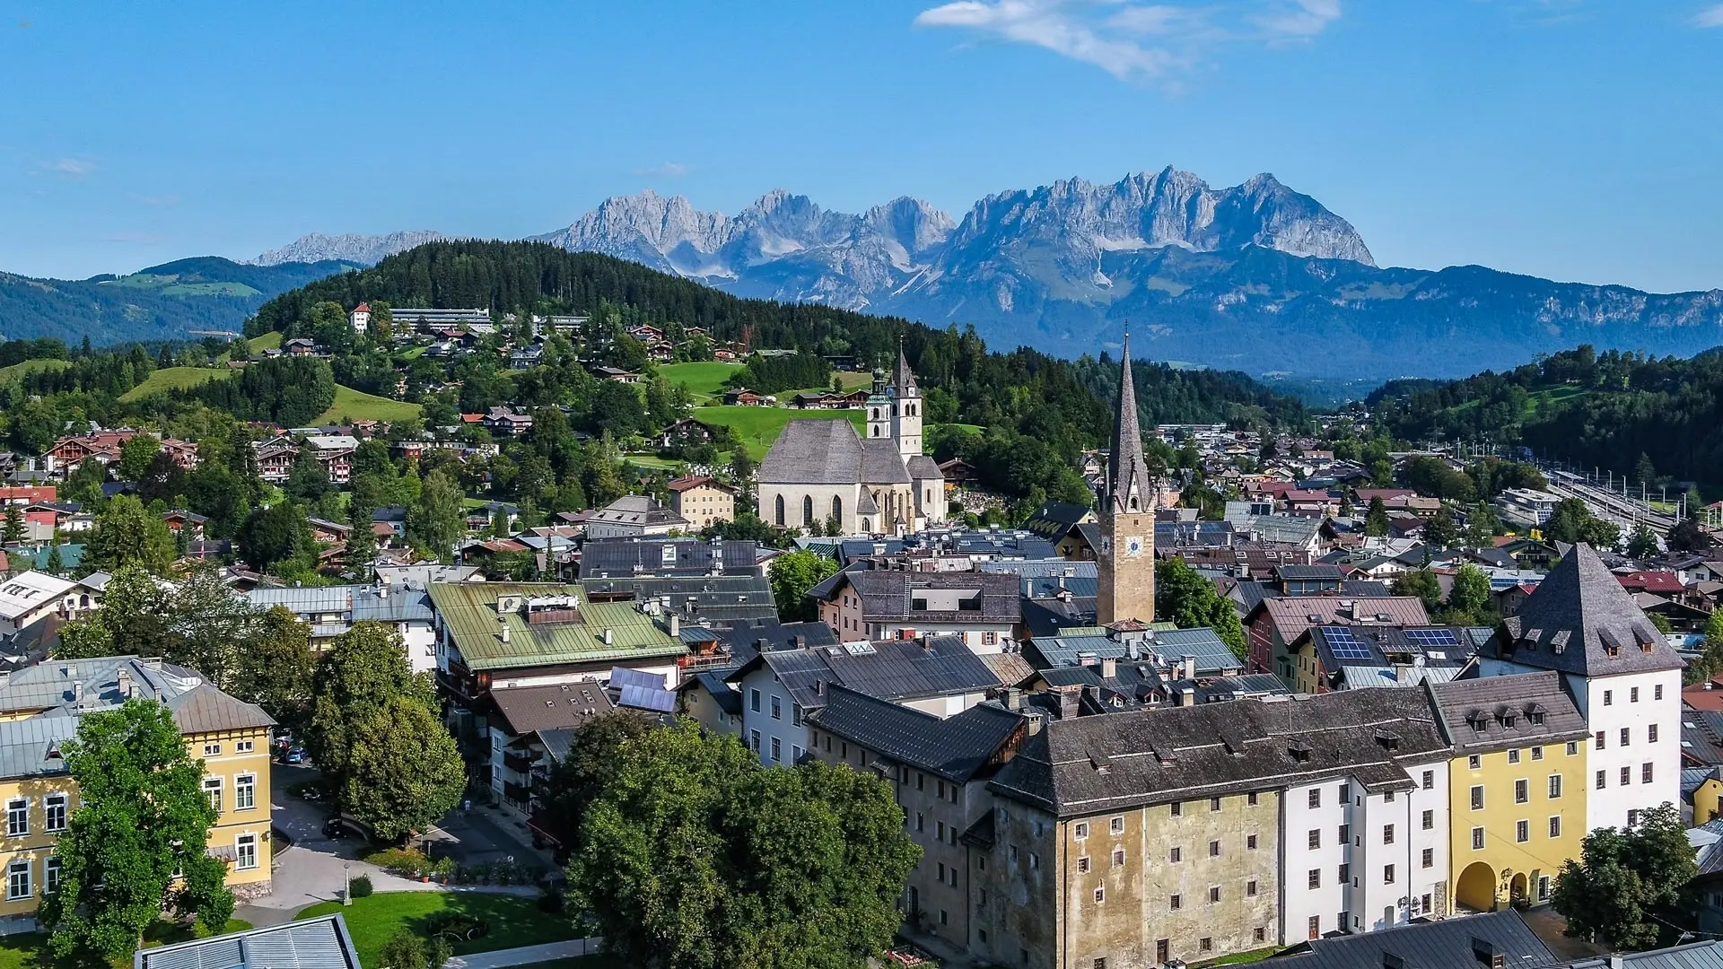
[(191, 759), (203, 762), (203, 790), (221, 810), (208, 853), (227, 862), (227, 886), (238, 898), (271, 891), (269, 731), (276, 721), (157, 659), (45, 660), (0, 674), (0, 935), (33, 931), (41, 895), (59, 878), (53, 845), (78, 809), (60, 747), (78, 736), (79, 716), (131, 698), (165, 703)]

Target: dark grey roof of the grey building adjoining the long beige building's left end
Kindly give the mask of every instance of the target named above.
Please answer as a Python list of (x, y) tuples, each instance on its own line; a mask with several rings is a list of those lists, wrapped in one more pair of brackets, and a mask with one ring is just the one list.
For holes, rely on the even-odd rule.
[(967, 783), (996, 762), (1005, 743), (1029, 722), (992, 703), (941, 719), (836, 685), (812, 719), (820, 729), (887, 760), (956, 783)]

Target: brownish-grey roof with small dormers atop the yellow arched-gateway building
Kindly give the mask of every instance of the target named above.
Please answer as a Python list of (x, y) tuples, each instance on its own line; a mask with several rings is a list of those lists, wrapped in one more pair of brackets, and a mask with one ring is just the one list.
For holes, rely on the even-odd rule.
[(1434, 683), (1430, 695), (1459, 753), (1590, 736), (1552, 671)]

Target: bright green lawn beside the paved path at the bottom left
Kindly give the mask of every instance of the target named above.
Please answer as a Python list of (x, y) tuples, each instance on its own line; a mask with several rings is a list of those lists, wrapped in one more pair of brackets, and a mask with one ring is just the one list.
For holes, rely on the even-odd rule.
[[(581, 938), (567, 916), (541, 912), (536, 898), (476, 891), (379, 891), (353, 898), (353, 905), (345, 909), (339, 902), (319, 902), (295, 917), (310, 919), (341, 912), (353, 936), (353, 947), (358, 948), (360, 966), (379, 966), (383, 943), (389, 941), (389, 936), (401, 926), (422, 929), (424, 921), (441, 910), (465, 912), (489, 924), (484, 936), (457, 945), (455, 955)], [(582, 969), (586, 966), (591, 964), (581, 964)], [(0, 969), (10, 967), (0, 966)]]

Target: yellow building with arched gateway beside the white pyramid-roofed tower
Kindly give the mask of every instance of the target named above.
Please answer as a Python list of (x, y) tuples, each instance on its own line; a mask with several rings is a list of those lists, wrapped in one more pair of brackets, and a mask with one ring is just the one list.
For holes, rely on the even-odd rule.
[(1449, 898), (1473, 910), (1547, 903), (1585, 838), (1585, 717), (1556, 672), (1428, 690), (1454, 745)]

